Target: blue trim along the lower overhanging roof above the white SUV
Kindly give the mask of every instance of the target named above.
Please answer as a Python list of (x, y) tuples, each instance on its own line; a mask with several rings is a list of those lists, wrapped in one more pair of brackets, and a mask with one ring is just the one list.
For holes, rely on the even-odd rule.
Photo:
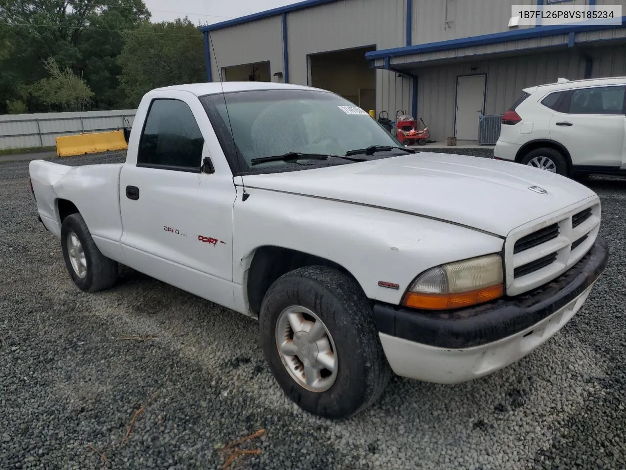
[(520, 39), (543, 38), (545, 36), (555, 36), (557, 34), (580, 33), (582, 31), (598, 31), (600, 29), (623, 28), (626, 24), (626, 16), (622, 16), (622, 24), (555, 24), (553, 26), (541, 26), (540, 28), (519, 29), (517, 31), (505, 31), (504, 33), (483, 34), (482, 36), (471, 36), (469, 38), (449, 39), (436, 43), (419, 44), (416, 46), (405, 46), (394, 49), (384, 49), (366, 53), (368, 60), (383, 59), (389, 57), (407, 56), (424, 52), (445, 51), (471, 46), (482, 46), (484, 44), (506, 43), (508, 41), (518, 41)]

